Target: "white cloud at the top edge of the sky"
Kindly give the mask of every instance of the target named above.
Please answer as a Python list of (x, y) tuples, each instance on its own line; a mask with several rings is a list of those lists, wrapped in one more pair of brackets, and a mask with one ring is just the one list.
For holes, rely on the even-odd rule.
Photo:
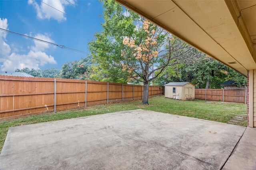
[[(44, 3), (42, 3), (44, 2)], [(58, 22), (66, 21), (66, 17), (63, 13), (65, 13), (65, 6), (71, 5), (70, 3), (74, 4), (74, 0), (69, 0), (70, 3), (68, 3), (66, 0), (42, 0), (40, 4), (36, 2), (36, 0), (28, 0), (28, 4), (33, 5), (36, 9), (37, 17), (40, 19), (48, 19), (53, 18), (54, 20), (57, 20)], [(48, 4), (48, 5), (46, 5)], [(50, 7), (52, 6), (52, 7)], [(56, 8), (57, 10), (55, 10)], [(61, 12), (59, 12), (60, 10)]]

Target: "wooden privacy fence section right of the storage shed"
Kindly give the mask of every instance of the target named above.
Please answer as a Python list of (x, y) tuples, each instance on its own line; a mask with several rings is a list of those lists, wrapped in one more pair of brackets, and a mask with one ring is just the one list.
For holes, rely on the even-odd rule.
[(196, 88), (195, 98), (222, 102), (246, 103), (246, 90)]

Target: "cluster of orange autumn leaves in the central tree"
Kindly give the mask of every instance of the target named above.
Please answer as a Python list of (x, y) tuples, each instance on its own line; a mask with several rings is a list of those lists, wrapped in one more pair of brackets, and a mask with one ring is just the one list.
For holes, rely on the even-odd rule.
[[(137, 60), (142, 60), (146, 63), (148, 63), (150, 60), (152, 60), (154, 57), (157, 57), (158, 55), (156, 42), (158, 36), (155, 36), (156, 29), (150, 27), (150, 24), (151, 22), (149, 22), (148, 20), (143, 21), (142, 28), (147, 33), (147, 37), (144, 43), (136, 45), (134, 39), (130, 39), (129, 37), (125, 37), (123, 39), (123, 44), (127, 45), (132, 49), (133, 56)], [(132, 60), (125, 51), (121, 52), (121, 56), (127, 58), (128, 60)], [(122, 64), (122, 68), (122, 71), (127, 70), (129, 73), (132, 73), (133, 68), (130, 68), (127, 64)]]

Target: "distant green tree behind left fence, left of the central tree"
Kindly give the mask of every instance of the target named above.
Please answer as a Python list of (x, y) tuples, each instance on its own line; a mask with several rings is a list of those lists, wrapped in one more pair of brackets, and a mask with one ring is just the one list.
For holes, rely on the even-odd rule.
[(69, 79), (88, 79), (91, 74), (92, 65), (90, 57), (82, 58), (78, 61), (66, 62), (62, 64), (60, 78)]

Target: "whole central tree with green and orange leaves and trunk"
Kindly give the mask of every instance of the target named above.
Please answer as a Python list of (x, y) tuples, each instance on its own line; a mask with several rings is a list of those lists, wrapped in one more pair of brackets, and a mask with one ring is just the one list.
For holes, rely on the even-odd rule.
[(112, 0), (104, 0), (103, 6), (103, 31), (96, 33), (95, 40), (89, 43), (94, 62), (91, 77), (122, 83), (142, 82), (142, 102), (148, 103), (149, 82), (158, 78), (167, 66), (191, 61), (193, 47), (134, 12), (124, 12)]

